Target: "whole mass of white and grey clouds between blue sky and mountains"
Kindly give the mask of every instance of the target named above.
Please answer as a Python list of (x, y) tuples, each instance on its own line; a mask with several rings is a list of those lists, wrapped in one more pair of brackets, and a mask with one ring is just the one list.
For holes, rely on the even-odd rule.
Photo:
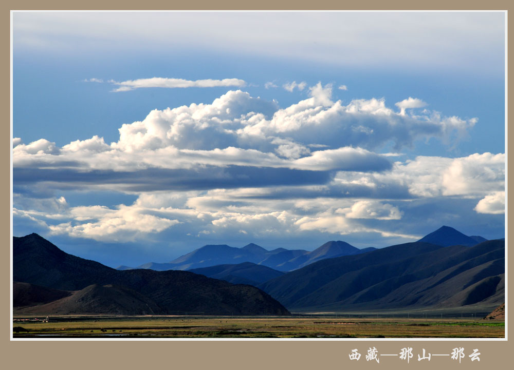
[[(470, 219), (502, 215), (503, 153), (379, 153), (421, 139), (454, 141), (477, 120), (419, 112), (426, 103), (411, 97), (395, 105), (399, 111), (383, 99), (344, 105), (321, 83), (285, 108), (236, 90), (211, 104), (153, 110), (120, 127), (113, 143), (97, 135), (62, 147), (14, 138), (13, 217), (99, 242), (176, 232), (215, 240), (369, 233), (399, 242), (422, 236), (406, 230), (419, 225), (425, 204), (439, 215), (427, 222), (440, 223), (451, 202)], [(107, 207), (61, 195), (105, 191), (137, 199)]]

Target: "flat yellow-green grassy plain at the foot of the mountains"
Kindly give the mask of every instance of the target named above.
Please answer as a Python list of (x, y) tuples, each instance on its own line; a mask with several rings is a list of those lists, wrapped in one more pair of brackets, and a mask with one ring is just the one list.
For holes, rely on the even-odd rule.
[[(503, 338), (505, 336), (503, 321), (486, 321), (482, 318), (68, 316), (50, 317), (49, 322), (13, 322), (13, 327), (15, 328), (13, 338)], [(18, 330), (17, 333), (16, 330)]]

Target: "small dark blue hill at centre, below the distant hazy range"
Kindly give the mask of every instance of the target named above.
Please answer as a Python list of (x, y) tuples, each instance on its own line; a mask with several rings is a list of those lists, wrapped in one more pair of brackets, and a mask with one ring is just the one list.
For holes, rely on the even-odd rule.
[(251, 262), (236, 265), (217, 265), (188, 270), (213, 279), (226, 280), (233, 284), (258, 285), (284, 275), (284, 272)]

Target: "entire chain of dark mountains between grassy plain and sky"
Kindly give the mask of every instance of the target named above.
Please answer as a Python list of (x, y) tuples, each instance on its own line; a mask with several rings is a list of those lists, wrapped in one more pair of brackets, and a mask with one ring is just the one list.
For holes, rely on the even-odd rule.
[[(38, 314), (288, 315), (284, 306), (338, 311), (475, 305), (490, 308), (485, 315), (505, 301), (505, 240), (481, 240), (443, 226), (418, 242), (380, 249), (341, 241), (311, 252), (207, 245), (171, 263), (116, 270), (31, 234), (13, 238), (14, 308)], [(242, 262), (209, 266), (225, 260)]]

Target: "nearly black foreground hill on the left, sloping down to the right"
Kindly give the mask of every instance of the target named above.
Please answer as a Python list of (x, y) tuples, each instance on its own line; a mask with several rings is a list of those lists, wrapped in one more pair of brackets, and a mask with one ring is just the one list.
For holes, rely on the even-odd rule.
[[(38, 309), (55, 308), (62, 313), (116, 311), (131, 315), (134, 310), (129, 303), (134, 302), (134, 309), (146, 307), (146, 313), (289, 315), (279, 302), (253, 286), (234, 285), (188, 271), (119, 271), (69, 255), (37, 234), (13, 238), (13, 280), (68, 291), (70, 296), (61, 297), (61, 302), (31, 297), (20, 301), (39, 300), (35, 303), (44, 303), (45, 307)], [(43, 294), (39, 288), (26, 287), (25, 290), (31, 289)], [(59, 296), (56, 292), (52, 294)], [(14, 297), (14, 301), (17, 299)]]

